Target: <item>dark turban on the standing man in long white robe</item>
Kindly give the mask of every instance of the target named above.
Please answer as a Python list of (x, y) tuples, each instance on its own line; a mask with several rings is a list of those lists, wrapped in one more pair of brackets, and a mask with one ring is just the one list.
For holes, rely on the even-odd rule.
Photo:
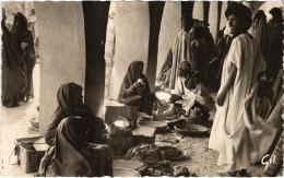
[(227, 19), (229, 15), (236, 15), (238, 17), (239, 25), (241, 25), (241, 33), (249, 29), (251, 25), (251, 11), (248, 7), (241, 3), (232, 2), (225, 12)]

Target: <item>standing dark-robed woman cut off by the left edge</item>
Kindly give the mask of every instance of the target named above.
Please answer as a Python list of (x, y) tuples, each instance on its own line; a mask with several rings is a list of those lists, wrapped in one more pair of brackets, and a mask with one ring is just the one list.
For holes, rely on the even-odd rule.
[(19, 106), (20, 93), (26, 87), (24, 61), (16, 49), (16, 39), (5, 26), (7, 12), (2, 9), (2, 105)]

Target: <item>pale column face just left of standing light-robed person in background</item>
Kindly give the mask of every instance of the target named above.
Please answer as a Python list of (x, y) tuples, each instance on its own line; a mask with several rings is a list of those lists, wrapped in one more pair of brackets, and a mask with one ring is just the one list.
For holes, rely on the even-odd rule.
[(181, 2), (166, 1), (158, 39), (157, 70), (158, 75), (161, 68), (171, 48), (177, 33), (181, 29)]

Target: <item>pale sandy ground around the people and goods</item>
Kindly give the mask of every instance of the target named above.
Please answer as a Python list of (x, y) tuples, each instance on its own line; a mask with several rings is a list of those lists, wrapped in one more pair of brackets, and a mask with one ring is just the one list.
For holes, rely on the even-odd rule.
[[(35, 67), (34, 74), (38, 76), (38, 64)], [(9, 156), (14, 149), (14, 140), (17, 138), (37, 137), (39, 133), (33, 129), (29, 119), (36, 112), (38, 106), (39, 79), (34, 78), (35, 102), (21, 103), (16, 108), (1, 108), (1, 176), (9, 177), (33, 177), (34, 174), (24, 174), (19, 165), (10, 165)], [(211, 112), (211, 121), (214, 111)], [(192, 138), (185, 137), (177, 145), (188, 153), (185, 159), (175, 162), (177, 165), (186, 165), (191, 173), (198, 177), (215, 177), (217, 175), (217, 152), (208, 149), (209, 137)], [(12, 163), (15, 157), (12, 155)], [(248, 170), (252, 177), (263, 176), (264, 166), (251, 166)]]

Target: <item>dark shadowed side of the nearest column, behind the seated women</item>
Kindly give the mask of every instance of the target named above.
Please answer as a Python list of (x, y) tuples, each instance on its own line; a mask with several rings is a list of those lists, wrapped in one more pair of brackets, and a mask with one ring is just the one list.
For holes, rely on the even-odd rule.
[(105, 93), (105, 41), (110, 2), (83, 1), (85, 27), (85, 103), (103, 117)]

